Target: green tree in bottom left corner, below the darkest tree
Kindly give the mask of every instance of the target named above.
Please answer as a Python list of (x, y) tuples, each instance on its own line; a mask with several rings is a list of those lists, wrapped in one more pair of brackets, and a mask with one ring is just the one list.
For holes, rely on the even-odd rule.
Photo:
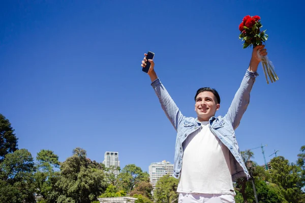
[(35, 202), (34, 160), (27, 150), (7, 154), (0, 164), (0, 202)]

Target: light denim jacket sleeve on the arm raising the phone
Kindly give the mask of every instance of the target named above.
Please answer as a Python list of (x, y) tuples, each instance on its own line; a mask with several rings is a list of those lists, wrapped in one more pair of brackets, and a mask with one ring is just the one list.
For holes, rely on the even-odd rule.
[(169, 121), (177, 131), (178, 126), (183, 119), (182, 113), (180, 112), (173, 99), (168, 94), (167, 90), (165, 89), (159, 78), (153, 81), (151, 83), (151, 86), (153, 86), (158, 96), (161, 107), (164, 110), (166, 117), (169, 119)]

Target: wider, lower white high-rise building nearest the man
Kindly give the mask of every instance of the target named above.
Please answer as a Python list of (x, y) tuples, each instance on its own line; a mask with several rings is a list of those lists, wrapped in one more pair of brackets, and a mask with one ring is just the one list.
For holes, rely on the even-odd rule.
[(149, 178), (150, 183), (153, 185), (154, 189), (156, 187), (159, 179), (164, 175), (172, 175), (174, 172), (174, 164), (170, 162), (166, 162), (165, 160), (162, 162), (155, 162), (149, 165)]

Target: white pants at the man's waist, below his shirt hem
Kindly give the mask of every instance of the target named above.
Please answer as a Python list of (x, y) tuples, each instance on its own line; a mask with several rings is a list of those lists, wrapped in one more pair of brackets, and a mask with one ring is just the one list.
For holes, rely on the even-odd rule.
[(235, 203), (234, 195), (179, 193), (178, 203)]

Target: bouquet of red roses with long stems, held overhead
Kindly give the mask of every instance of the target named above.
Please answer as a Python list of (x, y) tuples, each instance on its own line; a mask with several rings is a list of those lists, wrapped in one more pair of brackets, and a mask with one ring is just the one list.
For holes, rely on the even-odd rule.
[[(260, 28), (262, 27), (262, 24), (260, 22), (259, 16), (250, 16), (247, 15), (243, 17), (242, 22), (239, 24), (239, 39), (241, 41), (245, 41), (243, 43), (243, 48), (256, 47), (257, 45), (262, 44), (268, 39), (268, 35), (266, 35), (266, 30), (260, 31)], [(259, 56), (261, 56), (258, 53)], [(275, 67), (273, 66), (272, 62), (269, 61), (268, 56), (261, 56), (261, 62), (263, 66), (263, 70), (266, 76), (267, 83), (269, 84), (268, 77), (271, 82), (275, 82), (279, 79), (275, 72)]]

